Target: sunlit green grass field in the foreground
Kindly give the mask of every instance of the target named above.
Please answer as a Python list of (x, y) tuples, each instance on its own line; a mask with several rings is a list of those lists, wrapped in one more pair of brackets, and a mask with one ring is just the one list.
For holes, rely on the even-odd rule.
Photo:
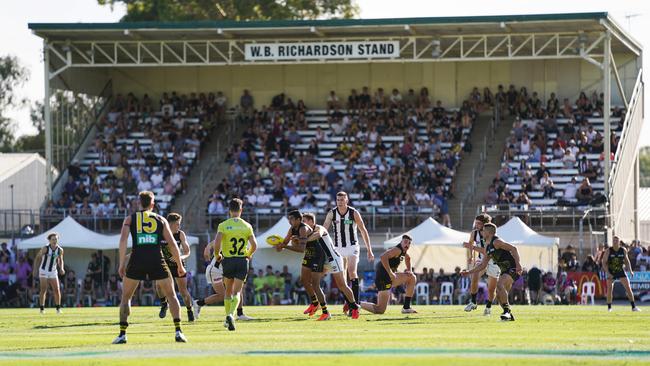
[[(203, 308), (183, 323), (189, 343), (177, 344), (168, 315), (134, 307), (129, 343), (111, 345), (118, 333), (117, 308), (0, 310), (0, 364), (65, 365), (650, 365), (650, 309), (628, 306), (521, 306), (515, 322), (499, 321), (482, 307), (418, 306), (402, 315), (363, 312), (359, 320), (333, 306), (333, 318), (316, 322), (303, 307), (248, 307), (256, 320), (223, 328), (223, 308)], [(186, 319), (183, 313), (183, 320)]]

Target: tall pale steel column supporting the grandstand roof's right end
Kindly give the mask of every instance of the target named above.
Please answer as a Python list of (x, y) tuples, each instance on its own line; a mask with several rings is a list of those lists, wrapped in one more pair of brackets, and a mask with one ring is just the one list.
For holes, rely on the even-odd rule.
[[(612, 228), (614, 220), (611, 219), (611, 188), (609, 186), (609, 175), (611, 172), (611, 129), (610, 129), (610, 114), (611, 114), (611, 103), (612, 103), (612, 72), (611, 72), (611, 57), (612, 57), (612, 36), (609, 30), (605, 33), (605, 42), (604, 42), (604, 55), (603, 55), (603, 122), (605, 123), (605, 153), (604, 153), (604, 162), (605, 162), (605, 197), (607, 198), (607, 204), (605, 205), (606, 215), (605, 215), (605, 225), (609, 228)], [(614, 229), (614, 228), (612, 228)]]

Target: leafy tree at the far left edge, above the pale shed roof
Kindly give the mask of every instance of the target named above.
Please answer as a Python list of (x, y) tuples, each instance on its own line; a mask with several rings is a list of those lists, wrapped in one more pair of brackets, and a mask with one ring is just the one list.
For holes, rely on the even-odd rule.
[(11, 151), (14, 143), (14, 121), (5, 115), (8, 109), (21, 106), (16, 89), (27, 81), (29, 73), (16, 57), (0, 57), (0, 151)]

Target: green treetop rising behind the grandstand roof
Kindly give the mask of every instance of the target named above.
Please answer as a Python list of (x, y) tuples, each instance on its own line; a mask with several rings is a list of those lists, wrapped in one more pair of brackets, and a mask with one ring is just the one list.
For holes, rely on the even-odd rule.
[(285, 20), (358, 16), (354, 0), (97, 0), (123, 3), (123, 22), (189, 20)]

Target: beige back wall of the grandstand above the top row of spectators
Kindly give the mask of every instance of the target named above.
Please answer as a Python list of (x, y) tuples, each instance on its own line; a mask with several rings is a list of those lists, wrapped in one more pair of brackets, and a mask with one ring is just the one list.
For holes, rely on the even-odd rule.
[[(617, 56), (616, 63), (626, 93), (634, 86), (634, 62)], [(499, 62), (434, 62), (434, 63), (358, 63), (358, 64), (294, 64), (217, 67), (157, 67), (110, 69), (115, 93), (144, 93), (157, 98), (162, 91), (178, 93), (221, 90), (238, 102), (244, 89), (252, 91), (256, 106), (268, 105), (271, 98), (284, 91), (297, 101), (303, 99), (308, 107), (322, 107), (330, 90), (342, 100), (350, 89), (383, 87), (388, 94), (398, 88), (403, 94), (409, 88), (429, 88), (430, 95), (444, 105), (458, 106), (474, 86), (507, 87), (514, 84), (537, 91), (546, 99), (555, 92), (559, 97), (575, 100), (581, 90), (601, 89), (601, 72), (582, 60), (540, 60)], [(612, 102), (622, 104), (615, 84)], [(153, 95), (152, 95), (153, 94)]]

